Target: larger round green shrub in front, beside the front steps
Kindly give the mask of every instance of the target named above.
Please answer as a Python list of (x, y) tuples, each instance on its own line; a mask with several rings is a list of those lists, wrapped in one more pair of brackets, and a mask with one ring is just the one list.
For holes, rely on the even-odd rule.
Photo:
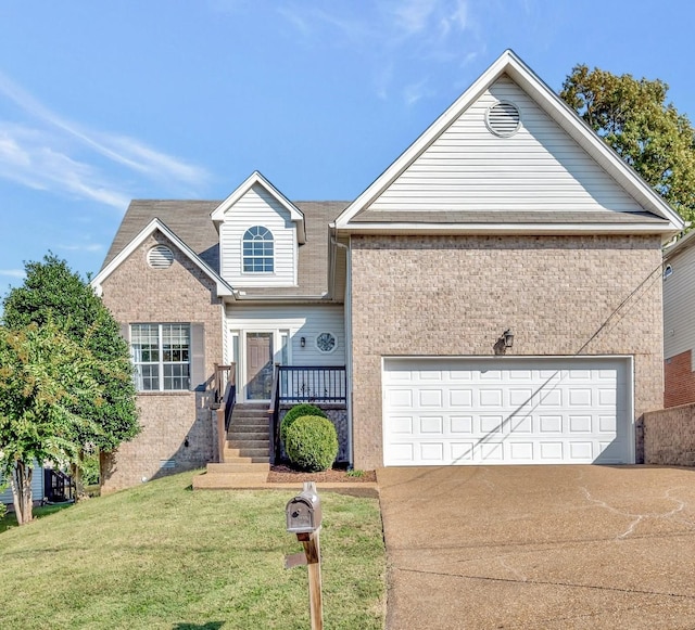
[(327, 417), (302, 415), (287, 429), (285, 449), (296, 467), (312, 473), (326, 471), (338, 455), (338, 433)]

